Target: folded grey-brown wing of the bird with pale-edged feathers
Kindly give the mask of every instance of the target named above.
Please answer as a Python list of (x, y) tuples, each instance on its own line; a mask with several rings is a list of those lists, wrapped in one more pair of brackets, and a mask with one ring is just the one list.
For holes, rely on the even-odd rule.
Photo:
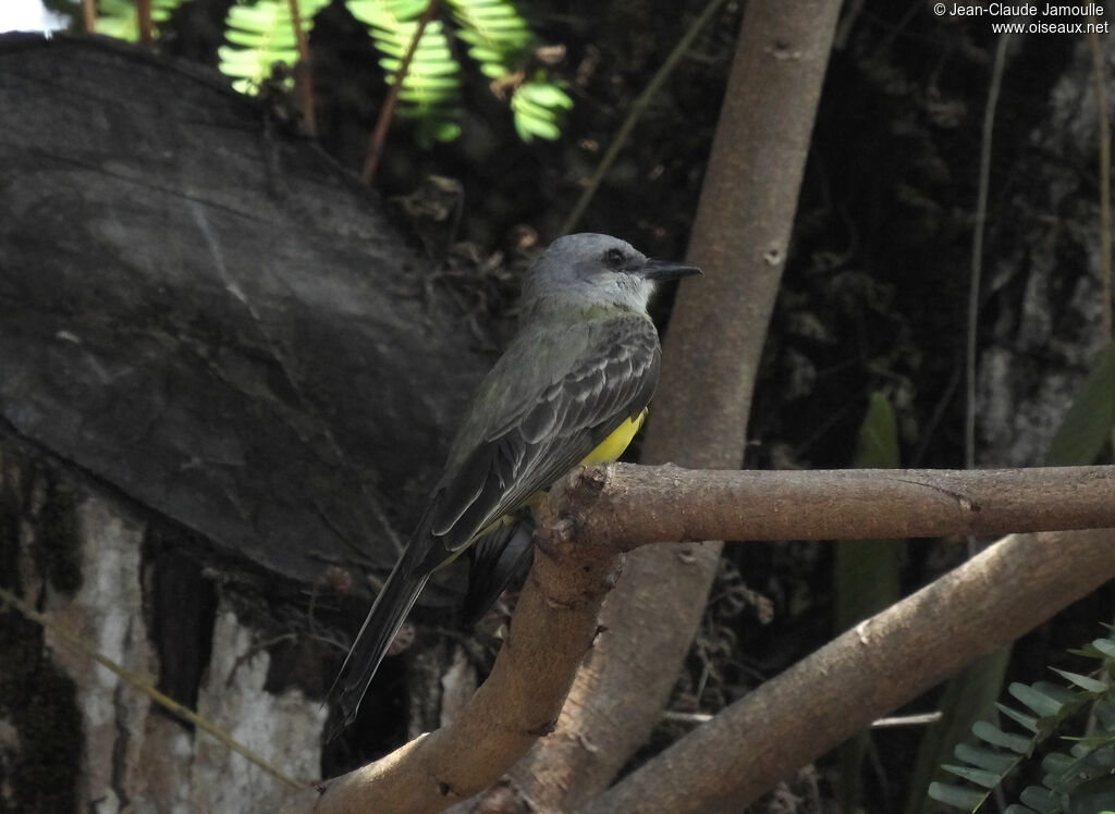
[[(435, 490), (433, 516), (424, 519), (442, 542), (432, 559), (467, 546), (492, 522), (522, 508), (650, 401), (660, 356), (650, 320), (599, 320), (582, 337), (565, 358), (563, 349), (551, 348), (541, 364), (508, 349), (508, 361), (482, 385)], [(511, 381), (513, 375), (520, 378)]]

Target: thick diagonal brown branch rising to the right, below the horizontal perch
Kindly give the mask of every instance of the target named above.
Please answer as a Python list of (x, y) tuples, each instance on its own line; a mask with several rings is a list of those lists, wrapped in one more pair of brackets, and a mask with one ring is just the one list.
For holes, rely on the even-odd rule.
[(874, 718), (1115, 576), (1113, 536), (1004, 540), (767, 681), (582, 814), (743, 811)]

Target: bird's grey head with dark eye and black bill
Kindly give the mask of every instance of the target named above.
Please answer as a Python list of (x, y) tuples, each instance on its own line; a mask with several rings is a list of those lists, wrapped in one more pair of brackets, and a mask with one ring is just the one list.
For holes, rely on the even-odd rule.
[(526, 274), (524, 309), (610, 307), (646, 312), (655, 284), (699, 274), (682, 263), (651, 260), (607, 234), (559, 238)]

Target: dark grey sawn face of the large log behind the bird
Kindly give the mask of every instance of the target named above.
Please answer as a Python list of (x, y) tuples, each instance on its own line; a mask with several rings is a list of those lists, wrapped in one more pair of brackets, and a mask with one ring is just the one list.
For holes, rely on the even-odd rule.
[(230, 561), (386, 571), (491, 361), (382, 201), (219, 75), (0, 37), (0, 430)]

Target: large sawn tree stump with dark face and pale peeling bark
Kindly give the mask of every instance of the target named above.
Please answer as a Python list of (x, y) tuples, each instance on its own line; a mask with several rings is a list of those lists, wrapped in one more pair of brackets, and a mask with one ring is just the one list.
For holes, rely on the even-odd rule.
[[(0, 584), (312, 778), (322, 620), (346, 592), (362, 618), (492, 343), (376, 193), (214, 71), (3, 36), (0, 107)], [(27, 810), (289, 795), (0, 616)]]

